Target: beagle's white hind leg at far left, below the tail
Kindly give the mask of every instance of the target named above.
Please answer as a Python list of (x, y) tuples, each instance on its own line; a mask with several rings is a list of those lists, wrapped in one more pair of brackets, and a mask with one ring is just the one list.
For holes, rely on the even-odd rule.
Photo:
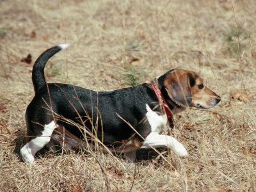
[(44, 130), (42, 131), (41, 136), (36, 136), (24, 147), (21, 148), (20, 154), (23, 158), (23, 161), (28, 163), (33, 163), (35, 161), (35, 154), (43, 148), (51, 140), (52, 132), (56, 129), (56, 124), (52, 121), (50, 124), (44, 125)]

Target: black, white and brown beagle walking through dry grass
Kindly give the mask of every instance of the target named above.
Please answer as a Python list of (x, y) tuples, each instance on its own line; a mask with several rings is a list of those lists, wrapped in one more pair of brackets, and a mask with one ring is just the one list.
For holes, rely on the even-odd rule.
[(33, 163), (36, 152), (45, 145), (51, 147), (52, 140), (67, 148), (77, 146), (79, 141), (86, 147), (92, 142), (85, 137), (92, 135), (132, 162), (136, 161), (134, 154), (139, 148), (168, 147), (185, 157), (186, 148), (172, 136), (162, 134), (166, 125), (172, 127), (172, 116), (188, 107), (209, 109), (221, 100), (198, 74), (184, 69), (169, 70), (150, 84), (112, 92), (46, 83), (45, 64), (66, 47), (68, 44), (47, 49), (33, 66), (35, 97), (26, 109), (28, 137), (20, 149), (25, 162)]

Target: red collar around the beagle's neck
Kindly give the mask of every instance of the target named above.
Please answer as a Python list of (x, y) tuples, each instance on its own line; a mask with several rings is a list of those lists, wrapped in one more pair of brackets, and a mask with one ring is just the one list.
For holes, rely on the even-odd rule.
[(167, 115), (167, 119), (170, 125), (170, 128), (173, 129), (173, 118), (172, 118), (172, 113), (170, 111), (170, 108), (168, 107), (168, 104), (166, 103), (166, 100), (163, 97), (163, 94), (161, 93), (161, 90), (159, 90), (159, 88), (156, 86), (156, 84), (154, 84), (153, 82), (150, 83), (154, 92), (156, 93), (157, 98), (159, 99), (159, 102), (161, 103), (164, 112)]

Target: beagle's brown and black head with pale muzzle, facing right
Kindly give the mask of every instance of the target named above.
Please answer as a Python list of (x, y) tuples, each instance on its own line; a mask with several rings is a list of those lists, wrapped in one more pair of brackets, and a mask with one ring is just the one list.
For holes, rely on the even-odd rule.
[(198, 74), (190, 70), (173, 70), (164, 79), (164, 88), (170, 99), (182, 108), (209, 109), (221, 100), (220, 96), (204, 85)]

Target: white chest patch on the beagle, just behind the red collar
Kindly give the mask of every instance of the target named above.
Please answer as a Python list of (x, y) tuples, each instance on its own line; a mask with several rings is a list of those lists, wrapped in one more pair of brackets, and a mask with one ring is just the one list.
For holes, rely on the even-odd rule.
[(146, 104), (147, 108), (147, 120), (151, 127), (151, 132), (157, 132), (157, 134), (161, 134), (164, 131), (164, 126), (167, 123), (167, 116), (164, 113), (164, 115), (158, 115), (155, 111), (152, 111), (148, 104)]

